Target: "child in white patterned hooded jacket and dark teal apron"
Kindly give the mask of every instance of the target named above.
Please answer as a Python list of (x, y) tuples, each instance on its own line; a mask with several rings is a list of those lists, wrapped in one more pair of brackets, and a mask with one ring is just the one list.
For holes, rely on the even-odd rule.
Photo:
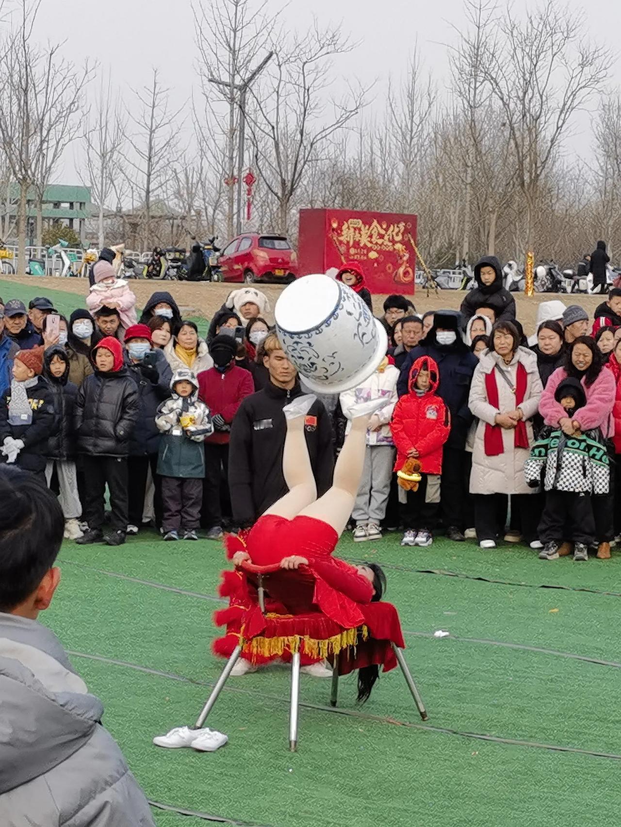
[(198, 400), (198, 381), (188, 368), (175, 370), (172, 399), (160, 404), (155, 424), (162, 434), (157, 473), (162, 478), (165, 540), (198, 540), (203, 503), (203, 441), (213, 434), (207, 405)]

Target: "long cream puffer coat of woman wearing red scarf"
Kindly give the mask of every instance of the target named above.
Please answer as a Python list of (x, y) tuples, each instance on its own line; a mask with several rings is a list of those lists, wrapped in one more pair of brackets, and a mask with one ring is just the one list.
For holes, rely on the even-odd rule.
[[(518, 362), (524, 366), (527, 373), (526, 393), (519, 406), (515, 401), (515, 394), (507, 382), (504, 381), (499, 370), (504, 370), (515, 387), (518, 371)], [(496, 370), (498, 368), (498, 370)], [(496, 386), (498, 387), (499, 407), (494, 408), (487, 399), (485, 376), (496, 370)], [(476, 427), (475, 445), (472, 452), (472, 472), (470, 478), (471, 494), (533, 494), (524, 479), (524, 462), (530, 455), (533, 445), (533, 424), (530, 422), (537, 413), (539, 399), (542, 394), (542, 383), (537, 370), (537, 356), (526, 347), (518, 347), (514, 359), (505, 366), (501, 356), (488, 351), (481, 356), (472, 377), (470, 398), (468, 405), (473, 416), (478, 418)], [(485, 455), (485, 425), (494, 424), (496, 414), (506, 414), (519, 407), (526, 420), (528, 434), (528, 448), (516, 448), (514, 445), (515, 432), (513, 429), (502, 429), (504, 452), (497, 457)]]

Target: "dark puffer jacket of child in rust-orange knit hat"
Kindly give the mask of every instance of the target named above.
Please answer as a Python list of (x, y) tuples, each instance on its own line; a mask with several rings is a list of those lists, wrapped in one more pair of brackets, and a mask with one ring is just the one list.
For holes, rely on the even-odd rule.
[[(41, 473), (45, 471), (47, 441), (56, 427), (54, 399), (42, 376), (37, 377), (36, 385), (26, 389), (26, 394), (32, 409), (32, 422), (28, 425), (11, 425), (8, 422), (10, 388), (0, 398), (0, 445), (4, 443), (6, 437), (21, 439), (24, 447), (19, 452), (15, 464), (26, 471)], [(0, 454), (0, 462), (4, 461), (6, 457)]]

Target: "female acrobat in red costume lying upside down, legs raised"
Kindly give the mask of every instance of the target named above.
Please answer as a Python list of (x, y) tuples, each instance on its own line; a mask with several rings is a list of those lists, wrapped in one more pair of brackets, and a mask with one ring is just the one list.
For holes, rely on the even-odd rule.
[[(337, 459), (332, 488), (319, 499), (304, 437), (304, 418), (314, 400), (312, 395), (300, 396), (284, 408), (287, 436), (283, 473), (289, 492), (260, 516), (245, 540), (227, 538), (227, 551), (236, 566), (245, 560), (282, 569), (305, 566), (304, 576), (299, 572), (295, 581), (287, 578), (286, 587), (278, 595), (270, 579), (270, 597), (277, 600), (266, 607), (268, 611), (296, 614), (297, 610), (299, 614), (303, 607), (308, 611), (313, 604), (344, 629), (351, 629), (365, 624), (363, 607), (380, 600), (385, 576), (375, 564), (351, 566), (332, 557), (332, 552), (350, 518), (360, 486), (370, 416), (385, 404), (385, 399), (372, 399), (353, 410), (351, 430)], [(310, 592), (300, 586), (304, 577), (308, 578)], [(231, 606), (216, 615), (217, 624), (228, 624), (227, 636), (214, 644), (217, 654), (229, 655), (239, 639), (241, 617), (247, 606), (247, 595), (241, 593), (245, 584), (239, 573), (225, 572), (221, 595), (231, 598)], [(304, 652), (301, 655), (306, 665), (318, 661)], [(249, 656), (242, 655), (232, 674), (253, 671), (257, 663), (274, 658), (254, 655), (251, 662)]]

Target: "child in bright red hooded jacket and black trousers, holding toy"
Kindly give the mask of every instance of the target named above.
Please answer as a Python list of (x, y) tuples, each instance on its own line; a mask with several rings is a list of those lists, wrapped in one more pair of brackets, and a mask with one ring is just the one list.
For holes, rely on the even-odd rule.
[(417, 490), (399, 486), (399, 502), (406, 531), (402, 546), (431, 546), (432, 529), (440, 506), (442, 446), (451, 432), (451, 414), (436, 394), (440, 381), (437, 364), (429, 356), (417, 359), (409, 372), (409, 393), (399, 399), (390, 428), (397, 447), (394, 471), (408, 459), (421, 465)]

